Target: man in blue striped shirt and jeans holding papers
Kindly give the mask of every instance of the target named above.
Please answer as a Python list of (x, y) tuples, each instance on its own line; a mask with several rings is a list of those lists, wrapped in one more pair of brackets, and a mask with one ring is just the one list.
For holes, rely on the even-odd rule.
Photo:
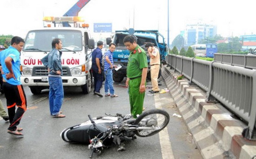
[[(113, 62), (113, 52), (115, 51), (116, 45), (114, 43), (109, 44), (109, 50), (105, 53), (104, 60), (104, 73), (106, 76), (105, 80), (105, 96), (118, 97), (115, 95), (115, 90), (113, 87), (113, 68), (117, 67)], [(110, 94), (108, 93), (108, 89)]]

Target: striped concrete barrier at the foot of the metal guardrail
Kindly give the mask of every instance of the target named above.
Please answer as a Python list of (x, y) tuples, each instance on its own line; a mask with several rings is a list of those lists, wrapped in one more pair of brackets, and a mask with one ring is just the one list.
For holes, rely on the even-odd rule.
[(247, 125), (220, 103), (206, 102), (206, 94), (167, 65), (162, 76), (205, 159), (256, 159), (256, 141), (244, 139)]

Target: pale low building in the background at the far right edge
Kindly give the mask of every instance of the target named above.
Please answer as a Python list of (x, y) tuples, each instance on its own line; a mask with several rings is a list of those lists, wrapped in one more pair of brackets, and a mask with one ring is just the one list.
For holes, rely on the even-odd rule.
[(242, 35), (239, 38), (242, 44), (242, 50), (256, 49), (256, 35)]

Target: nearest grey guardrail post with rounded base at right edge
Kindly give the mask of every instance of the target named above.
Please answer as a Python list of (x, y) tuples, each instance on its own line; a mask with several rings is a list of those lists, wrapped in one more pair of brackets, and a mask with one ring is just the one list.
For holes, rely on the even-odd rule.
[(249, 140), (256, 140), (256, 71), (253, 73), (252, 82), (252, 100), (249, 112), (249, 123), (248, 127), (243, 129), (243, 137)]

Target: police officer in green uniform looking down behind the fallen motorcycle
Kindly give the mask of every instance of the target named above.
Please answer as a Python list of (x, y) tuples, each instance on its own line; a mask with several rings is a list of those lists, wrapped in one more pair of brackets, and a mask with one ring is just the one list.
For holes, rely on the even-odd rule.
[(148, 72), (148, 60), (146, 52), (137, 45), (134, 35), (127, 35), (123, 43), (130, 51), (127, 66), (127, 80), (131, 114), (137, 118), (142, 113), (143, 102), (146, 90), (146, 77)]

